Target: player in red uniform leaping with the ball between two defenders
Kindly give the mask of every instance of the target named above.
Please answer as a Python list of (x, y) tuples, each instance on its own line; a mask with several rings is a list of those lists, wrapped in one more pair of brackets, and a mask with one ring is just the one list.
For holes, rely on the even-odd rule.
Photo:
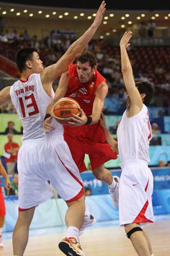
[[(100, 115), (104, 99), (108, 93), (106, 80), (97, 71), (96, 57), (91, 52), (83, 52), (76, 58), (76, 64), (70, 65), (59, 80), (55, 97), (50, 102), (46, 113), (51, 113), (53, 105), (62, 97), (76, 100), (82, 115), (73, 115), (69, 126), (64, 126), (64, 138), (80, 172), (86, 170), (85, 154), (89, 155), (92, 172), (96, 179), (109, 186), (113, 205), (118, 207), (118, 177), (104, 167), (104, 163), (116, 159), (116, 152), (106, 142), (105, 134), (100, 126)], [(50, 119), (44, 122), (46, 133), (53, 130)]]

